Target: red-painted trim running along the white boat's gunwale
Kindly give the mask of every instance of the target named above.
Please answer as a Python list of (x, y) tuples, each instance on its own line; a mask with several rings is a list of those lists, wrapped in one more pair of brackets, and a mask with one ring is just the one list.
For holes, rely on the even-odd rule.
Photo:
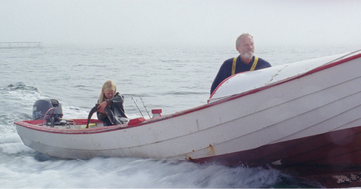
[[(137, 127), (137, 126), (146, 125), (146, 124), (149, 124), (149, 123), (154, 123), (154, 122), (158, 122), (158, 121), (162, 121), (162, 120), (167, 120), (167, 119), (170, 119), (170, 118), (173, 118), (173, 117), (182, 116), (184, 114), (196, 112), (196, 111), (199, 111), (201, 109), (212, 107), (214, 105), (224, 103), (224, 102), (227, 102), (227, 101), (230, 101), (230, 100), (234, 100), (234, 99), (240, 98), (240, 97), (245, 96), (245, 95), (257, 93), (258, 91), (262, 91), (262, 90), (268, 89), (270, 87), (277, 86), (277, 85), (283, 84), (285, 82), (292, 81), (292, 80), (295, 80), (295, 79), (310, 75), (312, 73), (321, 71), (323, 69), (327, 69), (327, 68), (336, 66), (338, 64), (342, 64), (342, 63), (348, 62), (350, 60), (360, 58), (361, 57), (360, 51), (361, 50), (353, 52), (353, 53), (358, 52), (359, 54), (352, 55), (350, 57), (347, 57), (347, 58), (344, 58), (342, 60), (338, 60), (338, 61), (335, 61), (335, 62), (332, 62), (332, 63), (329, 63), (329, 64), (325, 63), (326, 65), (314, 68), (314, 69), (312, 69), (312, 70), (310, 70), (308, 72), (301, 73), (300, 75), (296, 75), (296, 76), (286, 78), (286, 79), (278, 81), (278, 82), (274, 82), (273, 84), (270, 84), (270, 85), (266, 85), (266, 86), (263, 86), (263, 87), (260, 87), (260, 88), (257, 88), (257, 89), (246, 91), (244, 93), (235, 94), (235, 95), (229, 96), (229, 97), (227, 97), (225, 99), (221, 99), (221, 100), (218, 100), (218, 101), (215, 101), (215, 102), (212, 102), (212, 103), (200, 105), (200, 106), (195, 107), (195, 108), (186, 109), (186, 110), (183, 110), (181, 112), (176, 112), (176, 113), (173, 113), (173, 114), (168, 114), (168, 115), (165, 115), (165, 116), (145, 120), (145, 121), (143, 121), (141, 123), (136, 123), (136, 124), (131, 125), (131, 126), (123, 124), (123, 125), (114, 125), (114, 126), (108, 126), (108, 127), (97, 127), (97, 128), (90, 128), (90, 129), (71, 129), (70, 130), (70, 129), (56, 129), (56, 128), (36, 126), (36, 125), (32, 125), (32, 124), (29, 124), (29, 123), (26, 123), (26, 122), (23, 122), (23, 121), (17, 121), (17, 122), (14, 122), (14, 123), (16, 125), (19, 125), (19, 126), (27, 127), (29, 129), (39, 130), (39, 131), (43, 131), (43, 132), (58, 133), (58, 134), (94, 134), (94, 133), (100, 133), (100, 132), (109, 132), (109, 131), (114, 131), (114, 130), (127, 129), (127, 128), (130, 128), (130, 127)], [(347, 56), (347, 55), (345, 55), (345, 56)], [(242, 72), (242, 73), (244, 73), (244, 72)], [(238, 73), (238, 74), (242, 74), (242, 73)], [(233, 75), (233, 76), (235, 76), (235, 75)], [(229, 79), (229, 78), (227, 78), (227, 79)]]

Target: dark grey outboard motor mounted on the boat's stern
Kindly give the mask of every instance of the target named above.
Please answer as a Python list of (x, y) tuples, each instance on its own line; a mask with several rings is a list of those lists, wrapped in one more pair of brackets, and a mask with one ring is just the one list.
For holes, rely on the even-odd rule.
[[(47, 116), (45, 116), (45, 114), (47, 114)], [(60, 122), (63, 117), (60, 102), (50, 98), (36, 100), (32, 106), (32, 120), (42, 120), (44, 116), (51, 127), (54, 127), (55, 123)]]

